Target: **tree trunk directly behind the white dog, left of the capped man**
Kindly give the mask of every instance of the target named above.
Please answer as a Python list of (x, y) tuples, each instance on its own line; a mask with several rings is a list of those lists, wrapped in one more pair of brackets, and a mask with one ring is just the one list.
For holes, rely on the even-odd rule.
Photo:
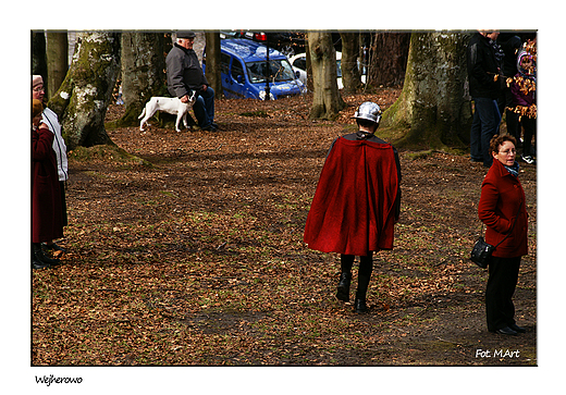
[(116, 126), (138, 125), (138, 116), (153, 96), (169, 96), (163, 33), (122, 32), (122, 97), (126, 111)]

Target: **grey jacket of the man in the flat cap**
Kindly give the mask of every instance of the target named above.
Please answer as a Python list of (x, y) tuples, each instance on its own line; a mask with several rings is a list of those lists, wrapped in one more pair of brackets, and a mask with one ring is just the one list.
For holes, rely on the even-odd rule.
[(169, 51), (167, 59), (167, 87), (172, 97), (182, 98), (190, 90), (200, 90), (209, 85), (198, 62), (196, 52), (177, 44)]

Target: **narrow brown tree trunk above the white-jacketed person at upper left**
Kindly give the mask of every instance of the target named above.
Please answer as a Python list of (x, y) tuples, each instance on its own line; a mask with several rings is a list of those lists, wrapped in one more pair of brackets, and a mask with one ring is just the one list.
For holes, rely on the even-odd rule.
[(66, 30), (47, 30), (47, 97), (52, 97), (69, 71), (69, 40)]

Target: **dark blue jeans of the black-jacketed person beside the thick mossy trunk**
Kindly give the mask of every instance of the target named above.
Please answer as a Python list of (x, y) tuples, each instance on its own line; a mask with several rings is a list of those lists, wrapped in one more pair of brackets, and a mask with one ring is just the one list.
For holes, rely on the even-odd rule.
[(476, 111), (470, 129), (470, 156), (472, 160), (482, 161), (491, 166), (493, 158), (490, 155), (490, 140), (499, 132), (501, 113), (497, 100), (490, 98), (473, 98)]

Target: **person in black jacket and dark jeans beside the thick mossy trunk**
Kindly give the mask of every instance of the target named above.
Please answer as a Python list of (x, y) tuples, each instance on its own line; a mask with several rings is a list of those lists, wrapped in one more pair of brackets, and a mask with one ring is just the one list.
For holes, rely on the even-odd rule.
[(501, 112), (497, 99), (501, 96), (501, 67), (491, 45), (499, 36), (496, 30), (478, 30), (467, 49), (467, 66), (470, 95), (473, 99), (473, 120), (470, 129), (470, 156), (475, 162), (490, 168), (490, 140), (499, 133)]

